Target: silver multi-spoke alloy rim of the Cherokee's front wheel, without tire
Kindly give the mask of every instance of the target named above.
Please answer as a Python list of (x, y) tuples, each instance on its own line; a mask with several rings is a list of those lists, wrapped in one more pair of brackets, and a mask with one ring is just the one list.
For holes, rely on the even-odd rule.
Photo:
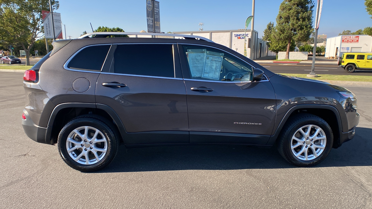
[(323, 129), (316, 125), (299, 128), (291, 139), (291, 150), (300, 160), (313, 160), (325, 149), (327, 137)]

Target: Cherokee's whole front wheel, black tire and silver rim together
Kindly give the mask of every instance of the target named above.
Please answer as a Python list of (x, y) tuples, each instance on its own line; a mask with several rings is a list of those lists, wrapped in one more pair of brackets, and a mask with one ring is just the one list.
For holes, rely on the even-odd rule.
[[(306, 136), (301, 134), (301, 131), (299, 131), (304, 126), (310, 127), (310, 136), (308, 138), (306, 138)], [(317, 134), (317, 138), (324, 138), (325, 136), (326, 139), (313, 139), (312, 141), (310, 141), (312, 138), (315, 138), (314, 131), (318, 130), (317, 128), (321, 129), (318, 132), (319, 134)], [(303, 128), (301, 130), (304, 131), (306, 134), (308, 129)], [(313, 136), (311, 136), (311, 133), (313, 134)], [(296, 139), (293, 139), (292, 137), (303, 139), (303, 141), (300, 142)], [(296, 142), (296, 144), (294, 144), (294, 142)], [(282, 129), (278, 138), (278, 151), (280, 155), (282, 155), (282, 157), (285, 158), (289, 163), (301, 167), (310, 167), (323, 161), (331, 151), (332, 145), (333, 134), (332, 129), (330, 128), (328, 123), (318, 116), (307, 113), (298, 114), (289, 119), (288, 123), (286, 123), (285, 127)], [(293, 148), (292, 150), (291, 146), (295, 148)], [(318, 146), (324, 146), (324, 148), (318, 148)], [(304, 149), (303, 152), (301, 152), (302, 149)], [(298, 153), (300, 155), (296, 157), (295, 154)], [(304, 154), (304, 156), (302, 156), (302, 154)], [(305, 158), (305, 156), (307, 158)]]

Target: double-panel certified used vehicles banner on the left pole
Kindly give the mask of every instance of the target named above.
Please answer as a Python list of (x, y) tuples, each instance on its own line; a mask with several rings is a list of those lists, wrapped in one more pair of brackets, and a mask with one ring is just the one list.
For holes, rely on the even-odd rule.
[(52, 14), (49, 11), (42, 11), (42, 18), (44, 24), (44, 34), (45, 38), (57, 38), (62, 39), (62, 24), (61, 24), (61, 13), (53, 12), (53, 22), (54, 22), (54, 33), (52, 29)]

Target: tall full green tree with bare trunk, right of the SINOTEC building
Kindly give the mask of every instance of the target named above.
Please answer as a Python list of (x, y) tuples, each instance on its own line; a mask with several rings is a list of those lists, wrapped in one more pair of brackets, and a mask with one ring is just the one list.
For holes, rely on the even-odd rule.
[(312, 0), (284, 0), (279, 7), (273, 38), (287, 42), (285, 58), (289, 58), (291, 42), (304, 42), (312, 32)]

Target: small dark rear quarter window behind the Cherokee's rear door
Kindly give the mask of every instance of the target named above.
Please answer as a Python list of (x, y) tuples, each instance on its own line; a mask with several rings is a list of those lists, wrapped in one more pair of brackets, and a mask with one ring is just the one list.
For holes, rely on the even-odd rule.
[(109, 49), (110, 45), (87, 47), (68, 63), (68, 68), (100, 71)]

